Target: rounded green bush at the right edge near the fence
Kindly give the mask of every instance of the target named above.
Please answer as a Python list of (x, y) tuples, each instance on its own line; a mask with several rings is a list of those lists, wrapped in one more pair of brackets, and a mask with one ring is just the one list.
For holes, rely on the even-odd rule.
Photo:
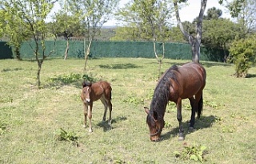
[(256, 43), (254, 37), (234, 41), (230, 46), (229, 61), (234, 63), (237, 77), (246, 77), (249, 68), (255, 63)]

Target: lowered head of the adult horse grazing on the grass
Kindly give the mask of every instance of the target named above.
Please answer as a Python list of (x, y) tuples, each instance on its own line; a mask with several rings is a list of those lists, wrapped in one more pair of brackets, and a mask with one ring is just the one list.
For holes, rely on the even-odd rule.
[(144, 109), (147, 113), (146, 123), (150, 128), (150, 140), (158, 141), (162, 132), (161, 123), (158, 121), (158, 114), (155, 111), (151, 114), (148, 107), (144, 107)]

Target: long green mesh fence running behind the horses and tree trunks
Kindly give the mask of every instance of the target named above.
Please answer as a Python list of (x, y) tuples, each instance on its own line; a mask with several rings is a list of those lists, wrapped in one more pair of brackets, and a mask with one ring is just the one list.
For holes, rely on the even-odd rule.
[[(89, 42), (84, 41), (69, 41), (70, 49), (68, 57), (84, 58), (85, 47)], [(156, 51), (158, 55), (162, 55), (162, 43), (156, 43)], [(22, 44), (22, 58), (34, 59), (33, 49), (35, 44), (33, 41), (26, 41)], [(46, 41), (46, 56), (54, 49), (54, 41)], [(56, 41), (54, 53), (51, 53), (51, 58), (62, 58), (66, 50), (66, 41)], [(42, 54), (42, 49), (39, 49)], [(218, 55), (213, 49), (201, 48), (202, 61), (222, 61), (223, 54), (218, 52)], [(139, 41), (93, 41), (90, 48), (90, 57), (143, 57), (154, 58), (153, 42)], [(170, 59), (191, 59), (190, 45), (180, 43), (165, 43), (165, 57)]]

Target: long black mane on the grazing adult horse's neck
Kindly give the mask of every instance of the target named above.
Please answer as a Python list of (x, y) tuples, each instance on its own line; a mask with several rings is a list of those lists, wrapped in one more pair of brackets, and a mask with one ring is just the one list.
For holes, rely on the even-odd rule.
[(178, 83), (177, 72), (177, 65), (173, 65), (167, 69), (166, 72), (162, 75), (161, 79), (158, 81), (156, 88), (154, 89), (154, 96), (150, 105), (150, 109), (152, 111), (156, 111), (158, 116), (164, 115), (166, 105), (169, 101), (170, 87), (172, 87), (170, 79)]

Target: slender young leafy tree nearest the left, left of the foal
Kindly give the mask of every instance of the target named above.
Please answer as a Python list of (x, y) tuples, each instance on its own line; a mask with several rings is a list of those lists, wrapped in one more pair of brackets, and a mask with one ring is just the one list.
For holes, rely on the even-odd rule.
[[(30, 33), (34, 40), (34, 46), (30, 45), (33, 49), (34, 56), (38, 64), (37, 80), (38, 88), (40, 88), (40, 72), (42, 70), (42, 63), (49, 57), (54, 51), (50, 51), (46, 54), (46, 33), (48, 32), (46, 28), (46, 16), (50, 13), (53, 7), (53, 2), (50, 0), (9, 0), (2, 3), (4, 9), (6, 10), (6, 22), (10, 25), (15, 25), (17, 27), (20, 25), (21, 29), (26, 30)], [(13, 15), (17, 16), (17, 19), (13, 19)], [(16, 18), (16, 17), (15, 17)], [(18, 22), (16, 22), (18, 21)], [(17, 25), (18, 24), (18, 25)], [(17, 31), (15, 31), (17, 32)], [(18, 33), (16, 33), (18, 34)], [(56, 37), (55, 37), (56, 38)], [(56, 41), (56, 40), (55, 40)], [(40, 47), (42, 48), (40, 51)], [(55, 42), (54, 42), (55, 48)]]

